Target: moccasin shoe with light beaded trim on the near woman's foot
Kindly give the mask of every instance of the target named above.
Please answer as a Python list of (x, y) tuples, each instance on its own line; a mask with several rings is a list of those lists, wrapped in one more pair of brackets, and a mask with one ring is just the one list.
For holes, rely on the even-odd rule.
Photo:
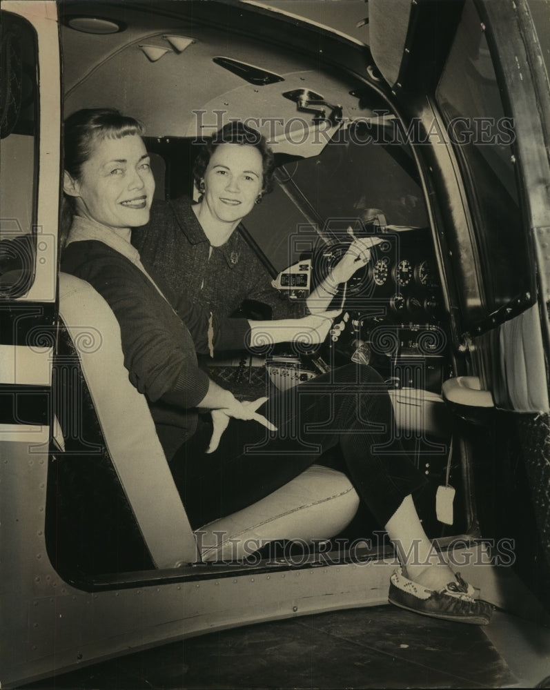
[[(465, 582), (464, 585), (466, 585)], [(407, 611), (422, 613), (422, 615), (429, 615), (432, 618), (487, 625), (491, 620), (491, 615), (493, 615), (491, 605), (481, 600), (475, 600), (468, 593), (467, 585), (464, 587), (466, 591), (460, 591), (460, 589), (462, 588), (457, 587), (455, 582), (451, 582), (440, 591), (426, 589), (422, 584), (405, 578), (401, 569), (397, 569), (390, 578), (388, 598), (390, 603), (395, 604), (395, 606), (407, 609)]]

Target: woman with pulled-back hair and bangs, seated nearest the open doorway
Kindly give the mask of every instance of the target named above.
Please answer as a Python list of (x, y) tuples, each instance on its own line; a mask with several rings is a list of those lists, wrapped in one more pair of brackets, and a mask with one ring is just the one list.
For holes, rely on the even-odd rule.
[[(391, 577), (390, 600), (426, 615), (489, 622), (489, 605), (475, 600), (422, 529), (412, 493), (424, 477), (393, 438), (391, 402), (372, 368), (350, 365), (268, 402), (238, 402), (197, 368), (193, 334), (130, 244), (131, 228), (148, 219), (154, 191), (141, 134), (137, 121), (112, 110), (79, 111), (66, 121), (63, 190), (75, 217), (61, 270), (88, 280), (115, 313), (130, 380), (152, 406), (191, 524), (252, 504), (339, 444), (357, 493), (406, 567), (406, 575), (398, 569)], [(193, 319), (193, 327), (204, 324), (200, 313)], [(214, 319), (207, 321), (210, 348)], [(172, 415), (175, 435), (162, 433), (155, 406)], [(213, 426), (197, 425), (197, 408), (210, 411)], [(231, 433), (222, 437), (228, 424)]]

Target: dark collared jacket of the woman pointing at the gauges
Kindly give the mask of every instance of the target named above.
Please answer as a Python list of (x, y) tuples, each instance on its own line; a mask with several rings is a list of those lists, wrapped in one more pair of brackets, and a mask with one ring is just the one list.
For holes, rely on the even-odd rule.
[(155, 200), (147, 225), (132, 230), (132, 244), (155, 281), (163, 277), (176, 295), (185, 295), (220, 317), (229, 317), (245, 299), (271, 308), (273, 319), (302, 317), (303, 303), (289, 302), (271, 285), (271, 276), (239, 228), (213, 247), (191, 200)]

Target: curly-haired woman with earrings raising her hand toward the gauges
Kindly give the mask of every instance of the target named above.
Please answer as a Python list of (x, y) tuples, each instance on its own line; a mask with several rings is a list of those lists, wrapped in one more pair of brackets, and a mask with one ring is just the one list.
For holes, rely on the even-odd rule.
[(208, 139), (193, 168), (196, 204), (188, 197), (155, 200), (150, 221), (135, 228), (132, 244), (151, 275), (219, 316), (245, 299), (265, 304), (273, 319), (323, 312), (338, 287), (370, 259), (380, 242), (358, 239), (304, 302), (282, 298), (266, 267), (240, 232), (241, 221), (273, 187), (273, 151), (257, 130), (233, 121)]

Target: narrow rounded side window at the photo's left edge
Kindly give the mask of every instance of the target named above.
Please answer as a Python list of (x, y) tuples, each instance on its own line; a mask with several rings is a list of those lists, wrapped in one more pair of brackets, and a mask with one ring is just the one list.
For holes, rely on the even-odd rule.
[(0, 294), (28, 292), (35, 274), (38, 78), (30, 23), (1, 14)]

